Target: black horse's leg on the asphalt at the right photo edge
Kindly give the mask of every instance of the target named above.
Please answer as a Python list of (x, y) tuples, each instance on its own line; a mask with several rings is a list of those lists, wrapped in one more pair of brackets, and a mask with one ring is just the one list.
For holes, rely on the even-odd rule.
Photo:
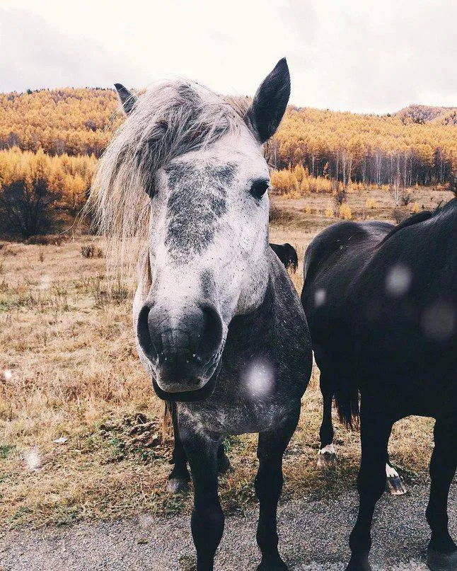
[(427, 521), (432, 529), (427, 563), (432, 570), (455, 571), (457, 547), (448, 531), (447, 503), (449, 487), (457, 467), (457, 422), (436, 420), (435, 447), (430, 462), (430, 500)]

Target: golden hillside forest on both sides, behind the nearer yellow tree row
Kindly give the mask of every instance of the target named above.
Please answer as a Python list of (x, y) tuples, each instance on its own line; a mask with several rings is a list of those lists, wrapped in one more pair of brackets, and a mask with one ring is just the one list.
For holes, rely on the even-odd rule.
[[(0, 149), (100, 156), (116, 108), (110, 89), (0, 94)], [(457, 171), (457, 109), (411, 105), (381, 116), (289, 107), (272, 162), (343, 184), (446, 183)]]

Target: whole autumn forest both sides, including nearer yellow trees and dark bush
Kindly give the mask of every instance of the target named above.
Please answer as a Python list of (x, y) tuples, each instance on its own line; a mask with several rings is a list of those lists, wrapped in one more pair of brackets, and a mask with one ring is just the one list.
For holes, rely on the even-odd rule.
[[(59, 231), (81, 211), (97, 158), (122, 120), (115, 93), (1, 93), (0, 109), (0, 234)], [(381, 116), (290, 106), (268, 154), (272, 192), (282, 195), (453, 187), (457, 109), (411, 105)]]

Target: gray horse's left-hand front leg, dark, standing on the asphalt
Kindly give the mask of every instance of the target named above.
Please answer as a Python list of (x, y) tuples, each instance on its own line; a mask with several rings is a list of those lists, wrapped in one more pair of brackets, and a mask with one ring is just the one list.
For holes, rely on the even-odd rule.
[(197, 550), (197, 571), (212, 571), (214, 555), (224, 532), (224, 514), (217, 493), (219, 440), (189, 425), (180, 425), (180, 437), (194, 483), (191, 527)]

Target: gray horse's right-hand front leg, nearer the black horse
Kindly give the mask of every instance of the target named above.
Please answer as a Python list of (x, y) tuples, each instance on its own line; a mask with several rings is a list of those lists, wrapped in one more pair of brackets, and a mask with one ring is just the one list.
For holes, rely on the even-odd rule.
[(299, 415), (298, 408), (284, 425), (259, 434), (259, 470), (255, 478), (255, 493), (260, 504), (257, 543), (262, 552), (262, 562), (258, 571), (287, 570), (278, 552), (276, 512), (282, 490), (282, 456), (299, 422)]

